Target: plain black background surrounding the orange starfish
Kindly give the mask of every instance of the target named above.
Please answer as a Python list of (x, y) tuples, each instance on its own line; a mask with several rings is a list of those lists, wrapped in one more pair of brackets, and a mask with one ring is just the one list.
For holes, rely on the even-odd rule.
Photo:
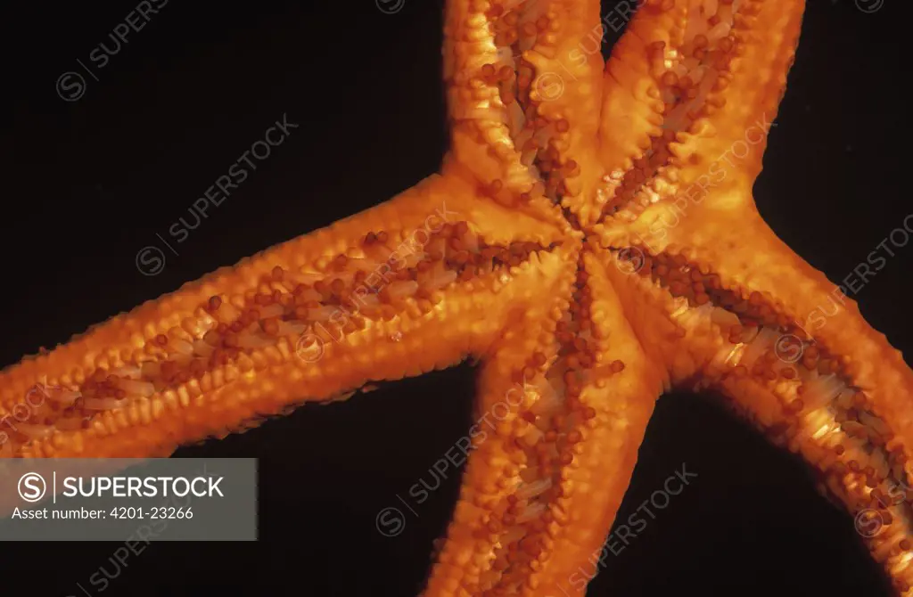
[[(171, 0), (68, 102), (58, 77), (80, 71), (77, 60), (94, 67), (89, 52), (136, 3), (5, 3), (2, 87), (13, 109), (3, 111), (0, 141), (0, 364), (436, 171), (446, 148), (440, 2), (404, 0), (395, 14), (373, 0), (254, 4)], [(910, 212), (905, 153), (895, 149), (907, 132), (896, 88), (907, 72), (901, 4), (866, 14), (852, 0), (812, 0), (755, 188), (778, 235), (834, 281)], [(283, 113), (299, 129), (174, 246), (179, 255), (168, 252), (156, 235), (167, 237)], [(165, 251), (156, 276), (135, 266), (144, 246)], [(911, 256), (913, 246), (899, 249), (857, 295), (901, 351), (913, 346)], [(375, 516), (432, 480), (429, 467), (471, 422), (473, 386), (464, 365), (180, 450), (259, 459), (257, 543), (154, 544), (104, 592), (89, 577), (115, 570), (117, 545), (3, 544), (0, 587), (31, 596), (84, 594), (78, 582), (91, 595), (415, 594), (458, 473), (406, 512), (399, 536), (383, 537)], [(888, 594), (852, 518), (817, 495), (803, 466), (698, 396), (661, 399), (619, 518), (682, 463), (698, 478), (610, 557), (589, 594)]]

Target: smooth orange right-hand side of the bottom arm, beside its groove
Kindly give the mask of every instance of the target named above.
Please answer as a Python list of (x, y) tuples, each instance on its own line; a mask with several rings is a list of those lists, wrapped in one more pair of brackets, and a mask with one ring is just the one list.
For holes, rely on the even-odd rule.
[(559, 508), (568, 518), (555, 533), (554, 560), (533, 579), (540, 581), (540, 588), (530, 592), (536, 595), (585, 594), (586, 582), (607, 557), (603, 542), (634, 474), (656, 399), (666, 387), (665, 372), (647, 358), (625, 318), (604, 259), (598, 253), (583, 257), (593, 293), (593, 326), (604, 339), (602, 366), (584, 374), (581, 391), (582, 403), (596, 416), (572, 466), (562, 472), (561, 486), (567, 490)]

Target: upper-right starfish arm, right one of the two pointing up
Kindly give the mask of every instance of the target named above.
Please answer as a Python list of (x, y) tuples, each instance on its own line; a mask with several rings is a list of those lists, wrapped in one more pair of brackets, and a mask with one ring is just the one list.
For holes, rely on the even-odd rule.
[[(649, 217), (658, 204), (698, 211), (750, 201), (708, 191), (735, 171), (750, 188), (761, 172), (803, 9), (802, 0), (734, 0), (638, 11), (605, 68), (604, 225)], [(617, 114), (625, 134), (613, 131)]]

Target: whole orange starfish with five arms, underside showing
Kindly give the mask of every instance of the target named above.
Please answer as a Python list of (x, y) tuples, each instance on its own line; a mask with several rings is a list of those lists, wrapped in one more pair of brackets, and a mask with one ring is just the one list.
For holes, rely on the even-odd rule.
[(425, 594), (557, 597), (583, 594), (657, 397), (707, 390), (878, 523), (908, 592), (913, 372), (751, 194), (804, 3), (630, 5), (449, 1), (440, 172), (8, 367), (0, 456), (168, 456), (475, 359)]

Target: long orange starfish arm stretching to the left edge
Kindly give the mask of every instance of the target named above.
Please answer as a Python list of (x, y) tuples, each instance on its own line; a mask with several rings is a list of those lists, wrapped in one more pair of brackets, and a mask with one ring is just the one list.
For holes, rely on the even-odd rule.
[(551, 275), (557, 237), (432, 176), (6, 368), (0, 456), (166, 456), (449, 366), (483, 351), (538, 283), (520, 265)]

